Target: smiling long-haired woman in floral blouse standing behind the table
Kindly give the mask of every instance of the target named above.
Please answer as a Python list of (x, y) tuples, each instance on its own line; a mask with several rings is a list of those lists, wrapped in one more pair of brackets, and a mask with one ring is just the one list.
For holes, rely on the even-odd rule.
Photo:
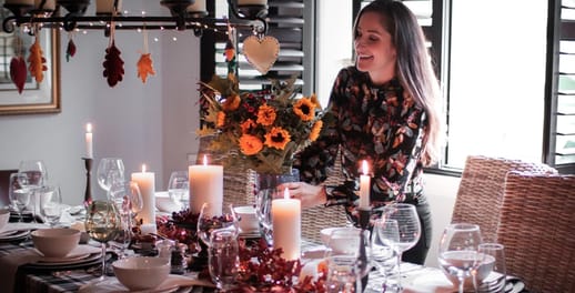
[[(376, 0), (357, 16), (354, 49), (355, 65), (342, 69), (335, 79), (321, 138), (294, 162), (302, 182), (286, 186), (304, 208), (345, 204), (356, 223), (359, 178), (366, 160), (373, 209), (392, 202), (416, 206), (422, 236), (403, 260), (423, 264), (432, 224), (422, 171), (434, 162), (440, 133), (438, 84), (425, 39), (402, 2)], [(339, 150), (347, 181), (321, 184)]]

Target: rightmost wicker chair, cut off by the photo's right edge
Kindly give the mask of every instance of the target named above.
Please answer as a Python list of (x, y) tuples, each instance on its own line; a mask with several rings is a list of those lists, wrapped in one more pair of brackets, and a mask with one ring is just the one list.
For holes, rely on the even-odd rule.
[(498, 242), (529, 292), (575, 292), (575, 175), (510, 172)]

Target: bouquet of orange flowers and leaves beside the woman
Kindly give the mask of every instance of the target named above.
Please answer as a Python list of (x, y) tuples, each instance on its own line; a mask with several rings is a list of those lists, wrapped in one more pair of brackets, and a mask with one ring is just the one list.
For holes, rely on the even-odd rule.
[(198, 134), (213, 138), (210, 151), (224, 154), (224, 165), (286, 173), (293, 154), (320, 135), (323, 111), (316, 95), (299, 97), (295, 77), (271, 82), (271, 90), (256, 92), (240, 92), (232, 73), (201, 83), (205, 114)]

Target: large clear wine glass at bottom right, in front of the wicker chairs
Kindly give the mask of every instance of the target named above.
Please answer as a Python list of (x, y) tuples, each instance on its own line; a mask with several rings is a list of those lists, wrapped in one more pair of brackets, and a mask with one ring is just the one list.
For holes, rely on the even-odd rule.
[(476, 224), (456, 223), (443, 230), (440, 239), (440, 266), (445, 273), (457, 276), (460, 293), (463, 293), (465, 279), (482, 262), (477, 252), (481, 243), (481, 231)]

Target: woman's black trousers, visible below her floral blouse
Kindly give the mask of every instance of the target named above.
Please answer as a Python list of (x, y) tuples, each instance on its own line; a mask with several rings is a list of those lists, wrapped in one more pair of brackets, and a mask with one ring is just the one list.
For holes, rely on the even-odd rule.
[(420, 216), (422, 234), (415, 246), (403, 252), (402, 261), (423, 264), (425, 262), (425, 257), (427, 257), (427, 252), (430, 251), (432, 242), (432, 214), (430, 203), (424, 194), (420, 194), (416, 200), (405, 203), (415, 205), (417, 215)]

